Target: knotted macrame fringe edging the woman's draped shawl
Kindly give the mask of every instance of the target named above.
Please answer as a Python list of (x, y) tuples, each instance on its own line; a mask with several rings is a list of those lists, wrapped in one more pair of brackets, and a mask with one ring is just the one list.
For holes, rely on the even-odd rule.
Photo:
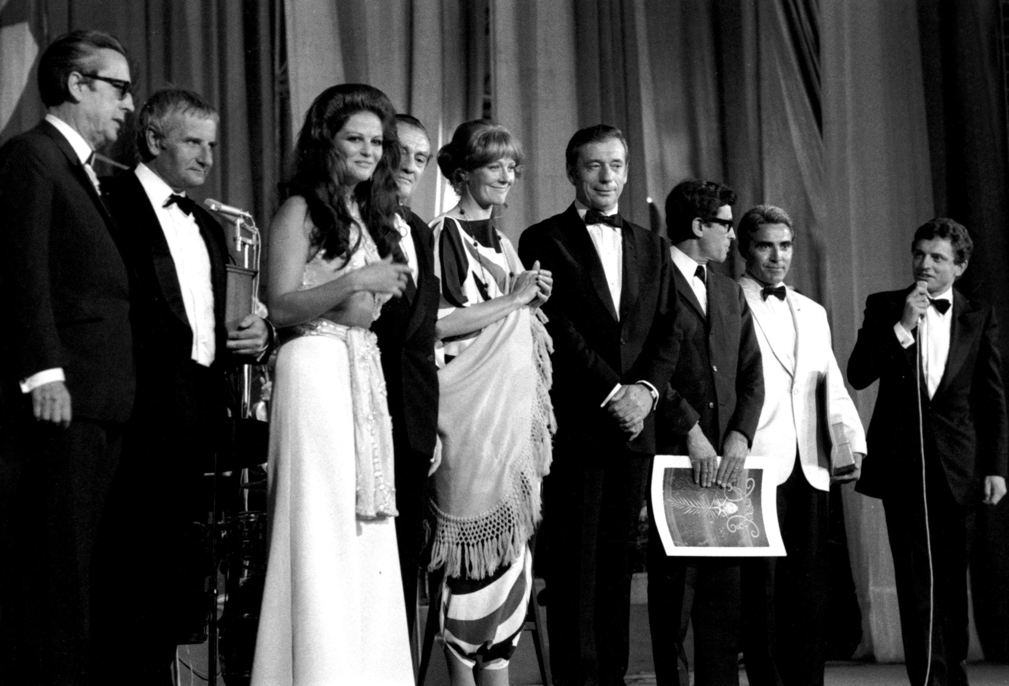
[(510, 475), (512, 487), (492, 509), (477, 517), (453, 517), (442, 511), (434, 500), (428, 501), (433, 536), (432, 522), (425, 522), (424, 527), (431, 543), (431, 571), (444, 566), (448, 576), (489, 576), (502, 565), (515, 562), (543, 519), (539, 484), (550, 473), (552, 440), (557, 433), (550, 402), (553, 341), (543, 326), (547, 318), (540, 310), (534, 312), (531, 321), (537, 371), (532, 426), (529, 443)]

